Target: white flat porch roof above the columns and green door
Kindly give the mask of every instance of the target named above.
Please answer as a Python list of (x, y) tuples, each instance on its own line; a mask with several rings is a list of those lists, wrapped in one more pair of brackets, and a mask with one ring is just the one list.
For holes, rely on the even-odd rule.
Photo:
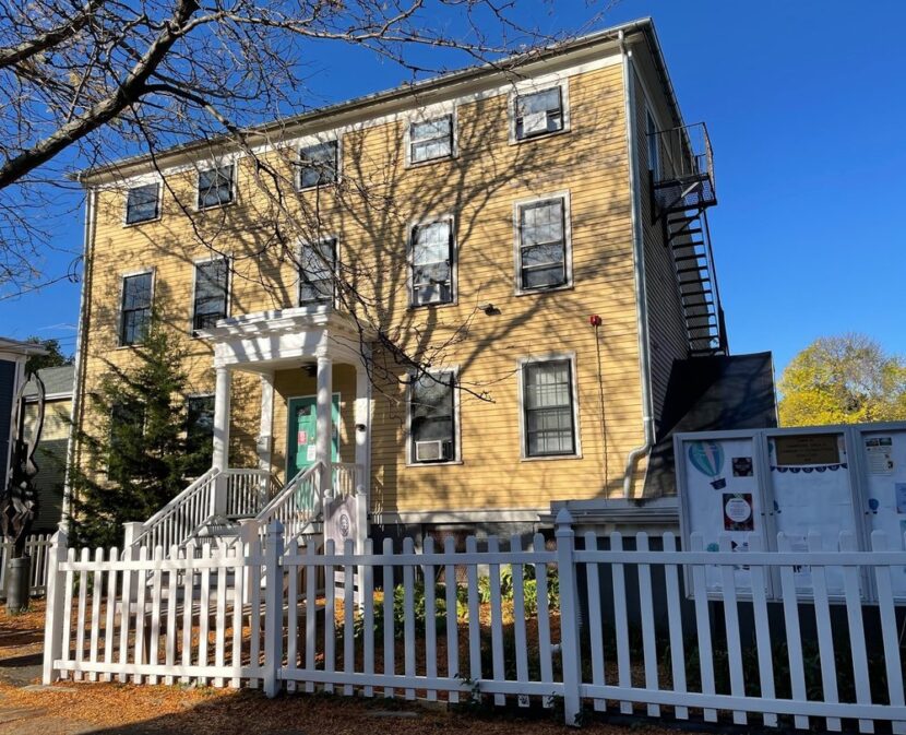
[(351, 317), (325, 305), (229, 317), (198, 335), (214, 346), (214, 367), (252, 372), (271, 372), (321, 356), (359, 364), (362, 341), (371, 336)]

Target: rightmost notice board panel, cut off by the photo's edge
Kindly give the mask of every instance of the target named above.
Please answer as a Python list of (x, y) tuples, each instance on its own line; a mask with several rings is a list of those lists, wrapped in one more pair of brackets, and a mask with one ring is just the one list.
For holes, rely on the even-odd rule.
[[(861, 430), (857, 436), (867, 530), (883, 531), (887, 548), (906, 548), (906, 430)], [(894, 595), (906, 600), (906, 568), (895, 570), (892, 582)]]

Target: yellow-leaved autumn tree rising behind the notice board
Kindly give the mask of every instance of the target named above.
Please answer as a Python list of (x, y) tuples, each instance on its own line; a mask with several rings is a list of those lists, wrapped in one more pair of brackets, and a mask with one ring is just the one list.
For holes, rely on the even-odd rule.
[(863, 334), (815, 340), (778, 389), (782, 426), (906, 419), (906, 361)]

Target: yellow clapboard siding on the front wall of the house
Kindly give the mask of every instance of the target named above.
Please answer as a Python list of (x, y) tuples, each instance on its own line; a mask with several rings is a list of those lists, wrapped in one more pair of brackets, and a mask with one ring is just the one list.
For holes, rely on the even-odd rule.
[[(362, 294), (369, 317), (412, 353), (430, 355), (438, 366), (460, 367), (467, 389), (461, 407), (462, 464), (407, 466), (403, 389), (395, 382), (375, 386), (375, 510), (546, 508), (551, 500), (598, 497), (605, 486), (610, 493), (621, 486), (627, 453), (642, 441), (621, 68), (570, 78), (569, 98), (570, 131), (520, 144), (509, 142), (506, 95), (462, 104), (460, 155), (413, 168), (403, 165), (403, 122), (346, 133), (341, 185), (285, 201), (288, 214), (277, 218), (286, 227), (286, 249), (274, 246), (274, 233), (263, 224), (272, 218), (274, 205), (252, 182), (248, 161), (239, 165), (238, 202), (195, 217), (198, 230), (214, 249), (235, 259), (230, 313), (295, 306), (295, 238), (333, 235), (338, 237), (344, 276)], [(288, 181), (286, 157), (265, 155), (276, 170), (286, 171)], [(155, 306), (184, 335), (192, 392), (213, 391), (211, 349), (189, 336), (193, 262), (208, 257), (210, 249), (180, 215), (170, 188), (192, 206), (194, 174), (175, 175), (167, 181), (162, 218), (133, 227), (122, 226), (122, 191), (98, 195), (85, 343), (87, 390), (106, 371), (105, 360), (123, 366), (131, 359), (130, 348), (117, 348), (121, 276), (154, 268)], [(515, 296), (514, 202), (560, 191), (570, 193), (574, 285)], [(289, 215), (306, 221), (315, 210), (319, 226), (288, 226)], [(456, 221), (457, 301), (410, 309), (409, 227), (446, 214)], [(482, 303), (492, 303), (500, 313), (477, 311)], [(593, 313), (604, 319), (599, 346), (606, 461), (595, 332), (588, 325)], [(548, 353), (575, 354), (582, 458), (521, 461), (516, 360)], [(335, 369), (335, 389), (349, 384), (348, 392), (341, 390), (345, 442), (355, 382), (350, 368)], [(286, 441), (282, 399), (309, 386), (301, 371), (291, 379), (288, 375), (277, 374), (273, 430), (278, 470)], [(472, 398), (468, 390), (487, 392), (489, 400)], [(259, 378), (237, 374), (230, 451), (243, 462), (253, 463), (259, 412)]]

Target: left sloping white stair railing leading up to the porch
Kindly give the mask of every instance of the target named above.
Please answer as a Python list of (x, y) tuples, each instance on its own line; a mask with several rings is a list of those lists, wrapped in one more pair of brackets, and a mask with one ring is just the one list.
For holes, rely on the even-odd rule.
[(186, 543), (211, 518), (219, 470), (212, 467), (142, 524), (133, 547), (170, 546)]

